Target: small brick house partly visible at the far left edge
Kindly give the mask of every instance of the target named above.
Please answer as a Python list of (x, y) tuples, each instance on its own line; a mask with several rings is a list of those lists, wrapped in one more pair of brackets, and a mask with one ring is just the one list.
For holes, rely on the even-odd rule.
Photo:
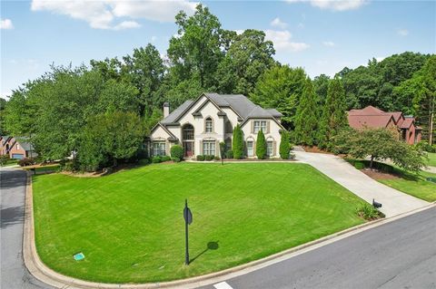
[(0, 155), (9, 155), (10, 159), (37, 157), (37, 153), (35, 153), (33, 146), (24, 140), (25, 138), (1, 136)]

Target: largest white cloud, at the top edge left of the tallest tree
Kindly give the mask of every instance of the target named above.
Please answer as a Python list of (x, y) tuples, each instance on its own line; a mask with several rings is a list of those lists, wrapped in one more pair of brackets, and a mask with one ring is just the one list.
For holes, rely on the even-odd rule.
[(172, 22), (183, 10), (193, 14), (197, 3), (189, 0), (32, 0), (33, 11), (50, 11), (86, 21), (92, 28), (122, 30), (140, 27), (134, 21), (116, 24), (119, 18), (144, 18), (158, 22)]

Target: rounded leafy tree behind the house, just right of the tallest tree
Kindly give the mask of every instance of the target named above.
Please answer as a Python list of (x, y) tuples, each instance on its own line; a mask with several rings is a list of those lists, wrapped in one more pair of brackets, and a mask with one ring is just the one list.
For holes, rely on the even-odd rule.
[(265, 33), (248, 29), (243, 34), (234, 34), (230, 48), (218, 65), (216, 79), (218, 91), (250, 95), (258, 78), (274, 65), (275, 53)]

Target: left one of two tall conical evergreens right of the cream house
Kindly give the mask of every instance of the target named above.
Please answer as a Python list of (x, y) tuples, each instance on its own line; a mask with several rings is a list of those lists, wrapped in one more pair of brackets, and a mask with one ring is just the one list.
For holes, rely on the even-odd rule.
[(318, 97), (313, 91), (310, 78), (307, 78), (295, 115), (295, 140), (304, 145), (313, 146), (318, 139), (319, 121)]

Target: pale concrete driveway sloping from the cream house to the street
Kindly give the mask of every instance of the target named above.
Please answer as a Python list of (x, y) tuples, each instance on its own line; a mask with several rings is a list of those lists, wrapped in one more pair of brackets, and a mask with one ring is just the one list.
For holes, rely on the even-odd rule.
[(294, 151), (296, 158), (320, 170), (353, 194), (372, 204), (372, 198), (382, 204), (381, 212), (386, 217), (400, 215), (428, 206), (430, 203), (385, 186), (352, 167), (345, 160), (329, 154)]

